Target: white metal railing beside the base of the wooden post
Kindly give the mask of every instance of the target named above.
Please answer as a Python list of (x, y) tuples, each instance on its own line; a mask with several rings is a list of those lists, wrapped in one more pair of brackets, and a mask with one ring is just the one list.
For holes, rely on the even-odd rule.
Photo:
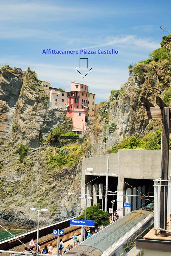
[[(162, 182), (165, 182), (166, 185), (161, 185)], [(169, 176), (169, 180), (161, 180), (161, 179), (156, 179), (154, 180), (154, 230), (155, 234), (157, 234), (157, 230), (161, 230), (160, 228), (160, 192), (161, 192), (161, 187), (164, 187), (164, 193), (165, 189), (167, 188), (168, 190), (168, 198), (167, 198), (167, 209), (165, 207), (165, 200), (164, 200), (164, 213), (163, 216), (165, 218), (165, 211), (167, 211), (167, 232), (171, 232), (171, 176)], [(165, 222), (165, 219), (164, 219)]]

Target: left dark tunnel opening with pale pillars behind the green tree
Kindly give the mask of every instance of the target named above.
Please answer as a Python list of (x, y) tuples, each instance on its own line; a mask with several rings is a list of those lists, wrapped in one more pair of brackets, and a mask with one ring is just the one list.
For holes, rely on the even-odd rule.
[[(109, 176), (108, 190), (111, 190), (112, 192), (116, 191), (117, 183), (117, 177)], [(87, 200), (87, 207), (99, 203), (101, 209), (104, 211), (106, 176), (98, 177), (95, 175), (86, 175), (85, 184), (85, 194), (91, 195), (91, 197), (93, 197), (92, 199)], [(112, 199), (115, 200), (113, 209), (114, 211), (117, 210), (117, 193), (114, 194), (114, 197), (112, 193), (108, 193), (107, 211), (109, 211), (109, 208), (112, 208)]]

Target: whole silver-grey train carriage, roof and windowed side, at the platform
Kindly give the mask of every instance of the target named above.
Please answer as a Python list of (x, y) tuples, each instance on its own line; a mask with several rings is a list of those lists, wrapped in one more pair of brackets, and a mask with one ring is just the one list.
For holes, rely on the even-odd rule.
[(110, 224), (77, 247), (67, 256), (124, 256), (135, 246), (135, 238), (153, 223), (153, 212), (135, 210)]

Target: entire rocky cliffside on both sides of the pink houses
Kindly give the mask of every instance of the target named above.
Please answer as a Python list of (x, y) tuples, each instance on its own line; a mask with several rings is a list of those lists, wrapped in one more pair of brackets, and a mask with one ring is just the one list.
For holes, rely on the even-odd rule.
[(13, 227), (31, 228), (37, 220), (30, 207), (47, 207), (40, 224), (79, 214), (83, 157), (108, 153), (112, 146), (134, 135), (141, 138), (161, 128), (160, 121), (144, 118), (140, 98), (154, 105), (160, 96), (171, 103), (171, 37), (150, 58), (129, 67), (128, 81), (111, 91), (107, 102), (89, 122), (84, 140), (59, 140), (71, 130), (65, 110), (48, 109), (48, 95), (36, 73), (20, 68), (0, 69), (0, 221)]

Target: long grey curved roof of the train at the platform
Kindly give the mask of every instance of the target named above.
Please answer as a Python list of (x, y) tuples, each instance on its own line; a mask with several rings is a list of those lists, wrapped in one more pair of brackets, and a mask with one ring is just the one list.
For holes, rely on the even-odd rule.
[[(109, 247), (111, 247), (115, 242), (118, 240), (121, 240), (122, 237), (129, 233), (129, 231), (134, 228), (136, 225), (140, 224), (141, 221), (143, 221), (146, 217), (149, 215), (153, 215), (152, 212), (144, 211), (144, 210), (135, 210), (131, 213), (127, 214), (123, 218), (117, 220), (116, 222), (108, 225), (104, 229), (102, 229), (100, 232), (94, 234), (92, 237), (86, 239), (84, 242), (82, 242), (80, 245), (78, 245), (76, 248), (71, 249), (66, 253), (66, 255), (80, 255), (77, 254), (76, 251), (82, 250), (82, 246), (85, 248), (93, 247), (96, 248), (99, 255), (101, 255), (101, 252), (106, 251)], [(75, 251), (75, 254), (74, 254)], [(70, 254), (71, 253), (71, 254)], [(88, 252), (86, 252), (86, 255)], [(84, 255), (84, 254), (81, 254)], [(98, 255), (98, 253), (96, 254)]]

